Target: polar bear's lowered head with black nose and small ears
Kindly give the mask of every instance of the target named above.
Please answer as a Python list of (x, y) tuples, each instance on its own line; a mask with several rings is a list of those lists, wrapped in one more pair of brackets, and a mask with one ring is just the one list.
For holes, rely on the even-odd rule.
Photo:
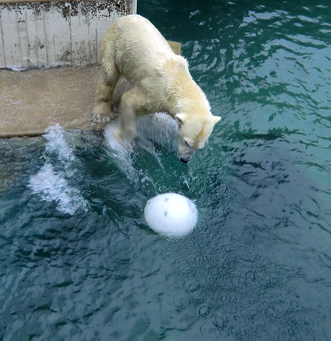
[(178, 124), (178, 156), (187, 163), (197, 149), (203, 148), (221, 117), (209, 114), (201, 119), (200, 116), (176, 114), (175, 118)]

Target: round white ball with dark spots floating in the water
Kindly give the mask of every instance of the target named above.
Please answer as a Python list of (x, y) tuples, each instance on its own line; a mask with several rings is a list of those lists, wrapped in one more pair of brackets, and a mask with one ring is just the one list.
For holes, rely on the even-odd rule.
[(149, 199), (144, 213), (148, 226), (166, 236), (183, 236), (198, 221), (193, 201), (178, 193), (159, 194)]

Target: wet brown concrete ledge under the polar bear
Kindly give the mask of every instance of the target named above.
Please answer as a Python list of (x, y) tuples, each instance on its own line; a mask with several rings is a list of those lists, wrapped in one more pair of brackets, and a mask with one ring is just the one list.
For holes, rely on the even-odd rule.
[[(169, 42), (177, 54), (181, 44)], [(0, 70), (0, 137), (36, 136), (58, 123), (65, 129), (99, 130), (91, 122), (99, 66), (26, 71)], [(113, 106), (129, 88), (124, 79)]]

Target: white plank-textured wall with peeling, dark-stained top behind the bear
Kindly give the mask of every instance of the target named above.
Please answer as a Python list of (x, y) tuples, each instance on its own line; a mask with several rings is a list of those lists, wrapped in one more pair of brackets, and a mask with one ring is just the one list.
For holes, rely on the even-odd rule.
[(101, 40), (137, 0), (0, 0), (0, 68), (100, 63)]

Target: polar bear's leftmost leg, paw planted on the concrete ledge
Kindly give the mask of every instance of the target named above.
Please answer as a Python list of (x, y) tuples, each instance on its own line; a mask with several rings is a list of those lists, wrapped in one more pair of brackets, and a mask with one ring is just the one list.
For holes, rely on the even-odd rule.
[(111, 99), (118, 79), (119, 72), (115, 65), (109, 68), (108, 72), (105, 71), (103, 66), (101, 67), (92, 111), (94, 123), (104, 124), (113, 119)]

